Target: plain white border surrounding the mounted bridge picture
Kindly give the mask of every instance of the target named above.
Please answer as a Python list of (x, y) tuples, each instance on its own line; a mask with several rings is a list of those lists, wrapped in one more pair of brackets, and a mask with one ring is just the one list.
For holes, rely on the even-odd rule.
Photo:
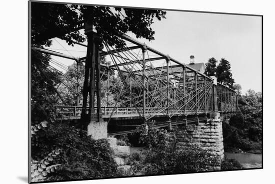
[[(56, 0), (52, 0), (56, 1)], [(263, 170), (185, 174), (70, 182), (68, 184), (142, 183), (271, 183), (274, 173), (273, 68), (274, 13), (272, 1), (260, 0), (64, 0), (93, 4), (263, 14), (264, 158)], [(27, 177), (27, 0), (2, 2), (1, 17), (1, 151), (0, 183), (26, 183)], [(260, 62), (260, 61), (259, 61)], [(249, 64), (249, 63), (247, 63)], [(3, 103), (2, 103), (3, 102)], [(269, 182), (270, 181), (270, 182)], [(59, 183), (62, 184), (62, 183)]]

